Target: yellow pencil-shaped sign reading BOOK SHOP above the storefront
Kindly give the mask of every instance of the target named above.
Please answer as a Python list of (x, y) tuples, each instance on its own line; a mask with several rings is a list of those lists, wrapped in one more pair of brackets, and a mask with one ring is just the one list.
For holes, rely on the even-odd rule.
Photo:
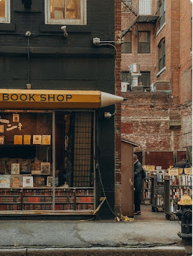
[(102, 91), (0, 89), (0, 109), (97, 109), (123, 100)]

